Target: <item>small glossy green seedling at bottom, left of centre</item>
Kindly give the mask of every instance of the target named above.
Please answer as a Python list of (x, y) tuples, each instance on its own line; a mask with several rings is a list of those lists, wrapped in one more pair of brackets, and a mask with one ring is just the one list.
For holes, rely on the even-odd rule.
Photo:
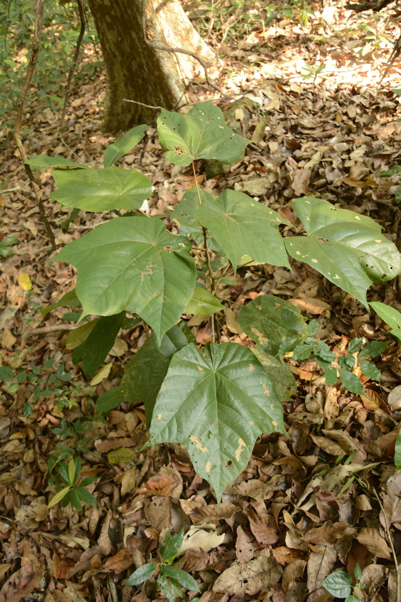
[[(194, 577), (191, 577), (186, 571), (172, 566), (173, 560), (176, 558), (177, 553), (182, 545), (184, 538), (184, 531), (181, 530), (177, 535), (170, 535), (170, 531), (165, 534), (165, 545), (162, 541), (159, 541), (159, 556), (161, 562), (158, 564), (149, 562), (145, 565), (139, 566), (130, 577), (126, 580), (124, 585), (139, 585), (144, 583), (147, 579), (153, 576), (156, 569), (159, 574), (156, 579), (156, 586), (161, 589), (165, 597), (169, 602), (174, 602), (176, 596), (180, 598), (182, 595), (182, 588), (188, 589), (192, 592), (199, 592), (198, 584)], [(199, 598), (192, 598), (192, 602), (198, 602)]]

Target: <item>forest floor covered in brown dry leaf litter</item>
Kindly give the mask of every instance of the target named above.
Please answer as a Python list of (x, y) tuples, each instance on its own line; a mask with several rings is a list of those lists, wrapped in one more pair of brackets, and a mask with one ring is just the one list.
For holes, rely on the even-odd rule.
[[(391, 53), (384, 36), (395, 41), (399, 25), (331, 4), (323, 13), (320, 8), (305, 28), (283, 19), (242, 32), (236, 43), (228, 36), (219, 45), (221, 64), (210, 73), (228, 96), (246, 90), (230, 111), (229, 125), (252, 143), (225, 175), (208, 177), (199, 162), (198, 181), (215, 194), (225, 188), (244, 191), (295, 226), (299, 221), (292, 199), (323, 197), (378, 220), (387, 237), (399, 243), (401, 213), (394, 193), (401, 175), (378, 176), (399, 162), (401, 152), (401, 125), (394, 122), (400, 116), (399, 96), (391, 92), (401, 88), (399, 61), (381, 81)], [(207, 16), (202, 18), (205, 23)], [(218, 34), (210, 44), (217, 49)], [(325, 64), (314, 85), (302, 78), (305, 63), (313, 69)], [(190, 94), (194, 102), (216, 99), (199, 82)], [(25, 111), (29, 128), (23, 131), (28, 155), (58, 155), (100, 167), (103, 150), (114, 140), (102, 132), (104, 95), (105, 75), (98, 71), (73, 88), (66, 125), (60, 129), (59, 114), (51, 108), (35, 111), (31, 93)], [(222, 110), (230, 106), (227, 98), (216, 100)], [(292, 300), (305, 316), (317, 318), (322, 338), (340, 355), (354, 337), (391, 340), (376, 361), (381, 382), (360, 375), (367, 397), (338, 385), (324, 386), (313, 360), (290, 362), (298, 385), (284, 403), (290, 439), (262, 435), (248, 467), (218, 507), (181, 445), (138, 452), (147, 436), (140, 404), (127, 400), (105, 422), (94, 422), (90, 432), (73, 430), (78, 419), (93, 414), (92, 400), (120, 383), (124, 364), (147, 332), (142, 324), (121, 330), (106, 370), (101, 368), (90, 383), (79, 364), (73, 364), (65, 347), (76, 319), (73, 309), (58, 308), (43, 319), (40, 308), (72, 290), (76, 272), (70, 265), (46, 262), (51, 246), (34, 196), (10, 130), (0, 133), (1, 235), (18, 240), (0, 264), (1, 363), (14, 375), (11, 387), (3, 378), (0, 389), (0, 602), (164, 600), (152, 580), (142, 590), (122, 583), (136, 566), (156, 556), (166, 529), (190, 530), (196, 541), (177, 566), (201, 584), (201, 602), (324, 602), (329, 594), (322, 579), (343, 568), (355, 584), (357, 562), (364, 584), (359, 597), (396, 602), (389, 536), (399, 554), (401, 471), (394, 467), (394, 444), (401, 420), (401, 363), (387, 327), (308, 266), (294, 262), (293, 272), (270, 265), (238, 271), (236, 283), (224, 290), (231, 341), (253, 344), (240, 329), (237, 311), (259, 294)], [(152, 215), (169, 213), (194, 185), (190, 168), (163, 158), (153, 124), (120, 164), (135, 166), (152, 179)], [(59, 250), (109, 219), (109, 213), (80, 211), (63, 231), (70, 212), (49, 200), (51, 172), (40, 173), (38, 180)], [(400, 277), (375, 284), (368, 298), (401, 309), (400, 287)], [(198, 343), (208, 342), (207, 317), (192, 321), (192, 332)], [(35, 383), (43, 378), (39, 389), (51, 388), (50, 377), (57, 370), (57, 376), (70, 375), (64, 396), (78, 400), (70, 409), (61, 407), (60, 396), (52, 391), (35, 397)], [(32, 403), (30, 415), (23, 414), (26, 402)], [(65, 441), (89, 437), (82, 474), (97, 477), (88, 487), (96, 506), (47, 509), (56, 491), (49, 484), (47, 460), (64, 435)], [(116, 463), (110, 452), (120, 448), (135, 452), (133, 459)], [(381, 496), (382, 507), (373, 491)], [(260, 557), (275, 559), (278, 577), (282, 573), (278, 582), (249, 568)], [(216, 578), (230, 566), (227, 587), (213, 591)]]

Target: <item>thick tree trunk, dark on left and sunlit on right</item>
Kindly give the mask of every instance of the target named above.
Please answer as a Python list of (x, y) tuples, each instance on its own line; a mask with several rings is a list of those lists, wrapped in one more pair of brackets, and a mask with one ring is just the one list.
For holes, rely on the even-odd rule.
[[(89, 0), (107, 70), (103, 129), (118, 132), (152, 123), (156, 111), (124, 102), (131, 99), (168, 110), (185, 100), (185, 79), (203, 69), (193, 57), (148, 46), (142, 34), (141, 0)], [(147, 39), (213, 60), (179, 0), (147, 0)]]

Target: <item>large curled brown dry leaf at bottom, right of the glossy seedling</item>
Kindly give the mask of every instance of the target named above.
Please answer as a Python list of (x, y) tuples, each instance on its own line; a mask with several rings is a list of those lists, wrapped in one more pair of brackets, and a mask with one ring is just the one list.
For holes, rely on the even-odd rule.
[(275, 586), (283, 573), (271, 556), (259, 556), (242, 565), (231, 565), (216, 579), (213, 592), (227, 595), (256, 595)]

